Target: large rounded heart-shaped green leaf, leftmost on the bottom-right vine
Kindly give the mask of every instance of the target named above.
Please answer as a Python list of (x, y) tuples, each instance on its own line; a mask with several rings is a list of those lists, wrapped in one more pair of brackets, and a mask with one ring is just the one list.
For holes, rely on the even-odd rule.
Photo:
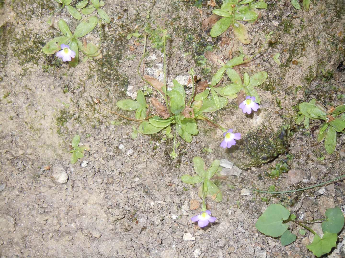
[(258, 218), (255, 227), (261, 233), (278, 237), (288, 228), (288, 225), (283, 224), (283, 221), (288, 219), (290, 211), (280, 204), (272, 204), (267, 207), (266, 211)]

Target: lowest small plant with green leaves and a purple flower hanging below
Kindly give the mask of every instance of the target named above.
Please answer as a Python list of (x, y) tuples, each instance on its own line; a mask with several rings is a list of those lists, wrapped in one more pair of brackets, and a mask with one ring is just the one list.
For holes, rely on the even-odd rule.
[(205, 162), (200, 157), (193, 158), (194, 170), (197, 175), (183, 175), (181, 181), (186, 184), (201, 183), (199, 187), (198, 195), (203, 199), (203, 205), (201, 207), (201, 213), (191, 218), (191, 221), (198, 222), (199, 227), (205, 227), (209, 222), (214, 222), (216, 217), (212, 217), (211, 212), (206, 208), (206, 197), (210, 197), (215, 202), (219, 203), (223, 200), (223, 195), (219, 188), (212, 182), (212, 177), (216, 172), (219, 172), (219, 160), (214, 160), (211, 166), (206, 170)]

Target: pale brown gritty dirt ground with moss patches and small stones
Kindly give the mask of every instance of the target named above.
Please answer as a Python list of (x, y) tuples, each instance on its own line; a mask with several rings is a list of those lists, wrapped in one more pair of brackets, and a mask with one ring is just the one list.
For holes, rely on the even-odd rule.
[[(103, 58), (84, 63), (81, 54), (77, 67), (71, 68), (54, 55), (43, 54), (42, 46), (61, 35), (59, 19), (72, 31), (79, 21), (63, 10), (52, 17), (50, 26), (50, 13), (59, 7), (55, 1), (0, 0), (1, 258), (314, 257), (305, 247), (313, 234), (301, 236), (293, 227), (297, 240), (282, 246), (279, 239), (259, 233), (255, 222), (273, 203), (305, 220), (321, 218), (331, 207), (344, 212), (345, 181), (282, 195), (257, 194), (238, 185), (263, 190), (275, 185), (283, 191), (344, 174), (345, 135), (338, 133), (335, 152), (329, 155), (323, 144), (316, 144), (319, 122), (312, 121), (308, 130), (295, 123), (302, 101), (316, 98), (326, 107), (344, 103), (344, 97), (338, 97), (345, 94), (344, 2), (312, 1), (305, 12), (297, 11), (289, 0), (266, 1), (268, 8), (260, 11), (256, 23), (243, 23), (251, 40), (248, 45), (230, 31), (226, 39), (210, 38), (201, 24), (214, 8), (206, 1), (197, 8), (194, 2), (105, 1), (110, 24), (100, 23), (85, 36), (95, 44), (101, 36)], [(220, 4), (217, 0), (216, 7)], [(162, 139), (163, 133), (132, 139), (132, 126), (138, 129), (139, 124), (105, 110), (134, 117), (115, 103), (135, 98), (145, 86), (136, 71), (143, 38), (126, 37), (134, 32), (143, 35), (148, 26), (151, 35), (167, 29), (171, 37), (170, 85), (176, 77), (186, 84), (192, 67), (210, 82), (216, 65), (198, 61), (207, 45), (228, 60), (239, 55), (239, 46), (245, 54), (255, 54), (265, 35), (273, 32), (250, 66), (240, 68), (242, 74), (268, 72), (258, 87), (259, 112), (243, 114), (235, 99), (209, 114), (225, 128), (242, 133), (245, 140), (236, 148), (220, 148), (222, 132), (198, 121), (199, 134), (191, 143), (178, 138), (181, 144), (173, 160), (169, 156), (173, 142)], [(223, 40), (229, 44), (221, 45)], [(161, 50), (154, 48), (150, 37), (146, 51), (140, 72), (162, 79)], [(276, 53), (280, 66), (273, 61)], [(206, 73), (205, 67), (211, 71)], [(76, 134), (90, 151), (70, 164)], [(180, 180), (183, 174), (195, 173), (195, 156), (207, 166), (225, 159), (238, 167), (218, 182), (223, 201), (208, 200), (217, 220), (205, 228), (190, 220), (201, 209), (197, 188)], [(289, 173), (272, 179), (268, 173), (279, 162), (287, 163)], [(320, 224), (312, 228), (321, 232)], [(343, 230), (328, 257), (345, 257), (344, 238)]]

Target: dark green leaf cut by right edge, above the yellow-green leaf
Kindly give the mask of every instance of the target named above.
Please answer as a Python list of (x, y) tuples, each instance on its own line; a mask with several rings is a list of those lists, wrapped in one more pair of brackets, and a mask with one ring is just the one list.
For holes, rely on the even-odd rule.
[(322, 231), (338, 234), (344, 226), (344, 214), (339, 207), (327, 209), (325, 212), (327, 220), (321, 224)]

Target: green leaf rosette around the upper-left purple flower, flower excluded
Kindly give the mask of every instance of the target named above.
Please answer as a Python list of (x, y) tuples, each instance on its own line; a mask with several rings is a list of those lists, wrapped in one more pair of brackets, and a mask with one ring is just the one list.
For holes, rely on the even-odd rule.
[(93, 43), (88, 43), (86, 45), (86, 42), (84, 42), (83, 44), (79, 40), (80, 37), (83, 37), (90, 31), (92, 31), (96, 27), (97, 22), (98, 19), (95, 16), (83, 20), (78, 24), (74, 34), (72, 34), (70, 29), (68, 28), (67, 23), (64, 20), (59, 20), (59, 29), (64, 36), (59, 36), (49, 41), (45, 46), (43, 46), (43, 53), (51, 55), (60, 50), (67, 51), (67, 47), (63, 46), (68, 45), (69, 49), (75, 53), (75, 56), (71, 56), (72, 59), (69, 62), (70, 66), (72, 67), (76, 67), (78, 64), (79, 50), (85, 55), (86, 59), (102, 58), (99, 46), (96, 46)]

